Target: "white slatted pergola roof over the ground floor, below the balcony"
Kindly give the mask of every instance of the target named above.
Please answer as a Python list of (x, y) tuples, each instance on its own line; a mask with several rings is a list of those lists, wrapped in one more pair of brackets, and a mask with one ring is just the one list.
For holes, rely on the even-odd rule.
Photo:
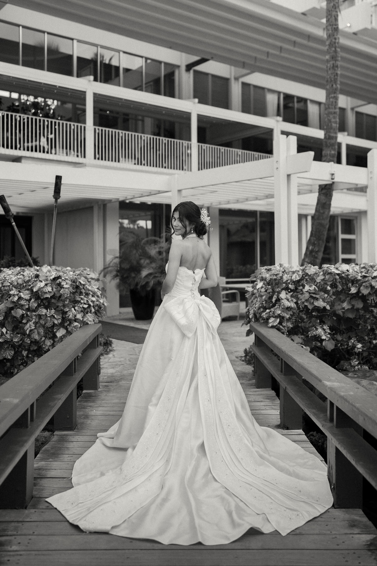
[[(171, 204), (172, 183), (183, 200), (201, 206), (248, 210), (274, 209), (273, 157), (192, 173), (163, 173), (96, 166), (36, 162), (1, 162), (0, 194), (14, 212), (37, 214), (53, 210), (55, 175), (62, 175), (58, 211), (85, 208), (114, 200)], [(299, 212), (312, 213), (318, 186), (333, 181), (333, 212), (366, 210), (366, 194), (347, 192), (365, 187), (367, 170), (313, 161), (313, 152), (287, 157), (287, 174), (297, 175)], [(339, 196), (338, 196), (339, 195)]]

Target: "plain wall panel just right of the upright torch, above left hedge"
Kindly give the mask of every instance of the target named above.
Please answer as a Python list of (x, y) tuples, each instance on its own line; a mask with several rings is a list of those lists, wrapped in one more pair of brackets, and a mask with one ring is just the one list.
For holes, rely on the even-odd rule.
[(54, 264), (94, 269), (93, 208), (57, 215)]

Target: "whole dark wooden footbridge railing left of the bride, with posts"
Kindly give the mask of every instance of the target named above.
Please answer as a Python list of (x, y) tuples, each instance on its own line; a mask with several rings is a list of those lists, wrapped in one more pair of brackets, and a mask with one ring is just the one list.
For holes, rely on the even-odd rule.
[(0, 508), (32, 499), (34, 440), (54, 418), (55, 430), (76, 427), (76, 385), (99, 387), (101, 324), (81, 327), (0, 387)]

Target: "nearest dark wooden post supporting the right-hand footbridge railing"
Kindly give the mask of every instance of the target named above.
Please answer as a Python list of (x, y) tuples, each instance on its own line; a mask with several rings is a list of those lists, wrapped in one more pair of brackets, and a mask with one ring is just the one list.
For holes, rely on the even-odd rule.
[[(354, 428), (362, 437), (362, 427), (341, 409), (328, 401), (327, 414), (336, 428)], [(334, 498), (334, 507), (362, 509), (363, 477), (344, 454), (327, 439), (327, 475)]]

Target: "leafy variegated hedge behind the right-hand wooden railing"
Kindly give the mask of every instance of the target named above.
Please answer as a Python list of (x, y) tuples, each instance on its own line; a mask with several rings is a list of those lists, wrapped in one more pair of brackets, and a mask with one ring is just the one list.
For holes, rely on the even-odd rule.
[(246, 297), (245, 324), (267, 323), (340, 370), (377, 369), (377, 264), (263, 267)]

